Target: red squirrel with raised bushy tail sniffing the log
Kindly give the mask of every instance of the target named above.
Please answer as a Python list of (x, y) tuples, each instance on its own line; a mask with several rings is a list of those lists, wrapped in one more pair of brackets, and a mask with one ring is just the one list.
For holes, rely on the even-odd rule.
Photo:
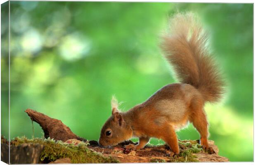
[(192, 13), (175, 14), (170, 25), (160, 45), (180, 83), (162, 87), (145, 102), (126, 112), (119, 111), (119, 103), (113, 97), (112, 115), (102, 127), (100, 145), (114, 146), (138, 137), (139, 143), (133, 146), (138, 150), (155, 137), (164, 140), (178, 155), (175, 131), (192, 123), (200, 134), (202, 148), (210, 154), (215, 153), (207, 141), (209, 124), (204, 104), (220, 101), (224, 81), (206, 47), (208, 34)]

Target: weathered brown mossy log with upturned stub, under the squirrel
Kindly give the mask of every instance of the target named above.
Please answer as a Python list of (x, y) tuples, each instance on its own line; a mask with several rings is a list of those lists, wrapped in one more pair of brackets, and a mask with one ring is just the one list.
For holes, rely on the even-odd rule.
[[(43, 150), (38, 150), (37, 154), (29, 153), (31, 159), (26, 163), (149, 163), (149, 162), (226, 162), (228, 158), (218, 155), (218, 147), (213, 141), (209, 141), (209, 145), (216, 152), (209, 154), (203, 151), (198, 144), (199, 141), (179, 141), (180, 154), (174, 156), (167, 145), (150, 145), (145, 148), (133, 151), (125, 148), (124, 145), (135, 144), (132, 141), (124, 141), (112, 148), (104, 148), (99, 146), (97, 141), (86, 140), (78, 137), (76, 134), (64, 125), (61, 120), (50, 118), (43, 113), (27, 109), (25, 111), (32, 121), (38, 123), (44, 133), (46, 139), (26, 139), (15, 138), (11, 141), (11, 156), (21, 157), (23, 151), (19, 150), (22, 146), (30, 146), (34, 148), (36, 145), (43, 146)], [(1, 143), (3, 140), (1, 138)], [(6, 145), (5, 144), (5, 145)], [(8, 147), (8, 146), (7, 146)], [(14, 149), (16, 148), (16, 149)], [(29, 147), (28, 147), (29, 148)], [(1, 148), (2, 150), (2, 148)], [(32, 149), (33, 151), (35, 149)], [(7, 151), (2, 154), (6, 154)], [(38, 158), (40, 155), (40, 158)], [(37, 157), (35, 157), (37, 156)], [(34, 159), (33, 159), (34, 158)], [(15, 161), (11, 163), (20, 164), (24, 161)]]

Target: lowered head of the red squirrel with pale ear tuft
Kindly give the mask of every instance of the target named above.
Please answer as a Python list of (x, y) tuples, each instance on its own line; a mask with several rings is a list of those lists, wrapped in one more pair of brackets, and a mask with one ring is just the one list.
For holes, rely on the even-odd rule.
[(115, 97), (111, 101), (112, 115), (103, 125), (100, 133), (99, 144), (102, 146), (115, 146), (132, 137), (132, 130), (123, 119), (123, 114), (118, 110)]

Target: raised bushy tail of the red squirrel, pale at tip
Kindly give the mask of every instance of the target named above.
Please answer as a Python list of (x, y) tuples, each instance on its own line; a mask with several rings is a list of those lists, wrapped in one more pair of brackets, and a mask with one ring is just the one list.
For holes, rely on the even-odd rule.
[(222, 97), (224, 82), (206, 47), (207, 33), (192, 13), (176, 14), (170, 21), (171, 33), (161, 43), (166, 59), (183, 83), (196, 87), (205, 101)]

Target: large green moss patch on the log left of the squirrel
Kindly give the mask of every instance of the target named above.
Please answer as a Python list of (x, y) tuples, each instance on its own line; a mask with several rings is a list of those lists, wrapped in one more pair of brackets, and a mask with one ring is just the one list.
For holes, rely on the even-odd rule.
[(114, 158), (104, 157), (102, 154), (87, 148), (88, 144), (84, 142), (75, 146), (74, 144), (66, 144), (53, 139), (27, 139), (26, 137), (17, 137), (11, 142), (14, 146), (23, 143), (43, 144), (45, 147), (40, 155), (42, 161), (55, 161), (59, 158), (70, 158), (71, 163), (118, 163)]

